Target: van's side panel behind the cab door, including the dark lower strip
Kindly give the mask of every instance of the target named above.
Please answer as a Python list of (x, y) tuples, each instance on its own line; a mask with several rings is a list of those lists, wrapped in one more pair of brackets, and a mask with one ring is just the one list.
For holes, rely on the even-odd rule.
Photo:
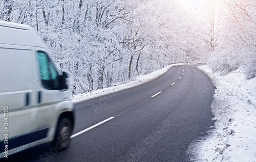
[(1, 152), (5, 144), (11, 150), (40, 138), (34, 125), (35, 90), (29, 86), (35, 68), (32, 55), (28, 47), (0, 44), (0, 131), (6, 134), (0, 136)]

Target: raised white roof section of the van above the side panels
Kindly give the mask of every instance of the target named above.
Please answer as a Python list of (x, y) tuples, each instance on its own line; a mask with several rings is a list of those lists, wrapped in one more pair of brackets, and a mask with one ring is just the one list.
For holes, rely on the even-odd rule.
[(28, 25), (0, 21), (0, 44), (46, 48), (33, 28)]

